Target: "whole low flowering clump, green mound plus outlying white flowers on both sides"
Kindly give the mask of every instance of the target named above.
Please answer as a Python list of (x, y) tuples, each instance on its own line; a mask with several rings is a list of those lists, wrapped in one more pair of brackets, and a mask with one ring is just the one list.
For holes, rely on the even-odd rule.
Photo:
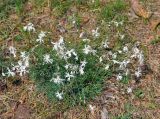
[[(111, 21), (106, 27), (118, 29), (122, 25), (123, 21)], [(101, 30), (97, 27), (89, 33), (83, 31), (76, 42), (63, 36), (52, 40), (50, 32), (38, 31), (28, 23), (22, 29), (22, 36), (34, 35), (27, 44), (30, 49), (20, 51), (14, 45), (9, 46), (14, 62), (8, 67), (1, 65), (2, 76), (29, 75), (38, 91), (50, 101), (69, 107), (95, 99), (111, 77), (122, 82), (133, 77), (139, 80), (141, 66), (145, 63), (140, 44), (124, 42), (126, 36), (118, 32), (116, 42), (111, 46), (112, 39), (107, 33), (103, 33), (105, 38), (102, 38)]]

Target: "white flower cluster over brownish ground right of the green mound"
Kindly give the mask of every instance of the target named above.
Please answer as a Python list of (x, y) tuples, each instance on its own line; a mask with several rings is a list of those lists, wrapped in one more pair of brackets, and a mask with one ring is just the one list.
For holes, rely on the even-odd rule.
[[(109, 48), (109, 39), (102, 41), (101, 48)], [(142, 76), (141, 66), (144, 64), (144, 55), (143, 52), (138, 48), (138, 43), (135, 45), (126, 44), (123, 48), (117, 51), (107, 51), (99, 58), (99, 62), (102, 63), (106, 70), (109, 67), (116, 67), (115, 73), (117, 80), (122, 80), (124, 76), (135, 75), (136, 78), (140, 78)], [(125, 57), (124, 57), (125, 56)], [(121, 59), (120, 57), (123, 57)], [(135, 64), (134, 61), (137, 61)], [(108, 62), (107, 64), (104, 61)], [(133, 67), (131, 68), (130, 66)]]

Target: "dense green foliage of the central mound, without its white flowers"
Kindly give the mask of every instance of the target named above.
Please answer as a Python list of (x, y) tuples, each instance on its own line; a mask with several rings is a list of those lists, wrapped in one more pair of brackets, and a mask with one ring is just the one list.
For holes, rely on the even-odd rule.
[[(60, 91), (63, 92), (63, 103), (72, 107), (84, 105), (87, 101), (94, 99), (95, 96), (102, 92), (105, 79), (109, 78), (112, 73), (101, 68), (96, 56), (86, 56), (82, 53), (81, 47), (81, 45), (75, 47), (79, 54), (79, 59), (74, 60), (74, 57), (72, 57), (67, 63), (57, 57), (56, 52), (51, 51), (52, 64), (43, 64), (43, 54), (47, 53), (47, 48), (42, 49), (40, 46), (36, 49), (35, 55), (38, 58), (38, 62), (30, 70), (31, 78), (35, 80), (38, 89), (43, 91), (49, 100), (54, 102), (59, 101), (55, 96), (55, 92)], [(65, 79), (66, 72), (70, 72), (65, 69), (65, 65), (69, 63), (78, 66), (84, 59), (87, 62), (84, 75), (76, 73), (73, 79), (70, 81), (65, 80), (63, 84), (56, 84), (50, 81), (56, 73)]]

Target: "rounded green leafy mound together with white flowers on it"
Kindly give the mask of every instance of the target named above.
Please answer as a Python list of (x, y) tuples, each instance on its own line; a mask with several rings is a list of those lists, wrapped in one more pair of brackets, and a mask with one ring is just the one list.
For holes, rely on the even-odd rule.
[(69, 105), (85, 104), (103, 90), (105, 79), (112, 76), (99, 62), (96, 48), (84, 42), (67, 43), (60, 36), (52, 42), (53, 48), (38, 46), (34, 49), (34, 65), (30, 75), (38, 89), (50, 100)]

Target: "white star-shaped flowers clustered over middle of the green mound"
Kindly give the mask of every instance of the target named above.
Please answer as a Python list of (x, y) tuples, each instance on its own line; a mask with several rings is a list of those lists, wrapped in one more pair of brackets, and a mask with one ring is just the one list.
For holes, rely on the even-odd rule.
[[(59, 37), (59, 40), (57, 42), (51, 42), (51, 44), (53, 45), (52, 52), (54, 54), (44, 54), (43, 65), (52, 65), (54, 59), (51, 57), (51, 55), (55, 55), (57, 58), (59, 58), (61, 61), (65, 63), (63, 67), (59, 66), (59, 64), (56, 65), (57, 70), (55, 73), (52, 74), (52, 78), (50, 79), (50, 82), (57, 86), (65, 85), (66, 82), (75, 80), (77, 76), (85, 75), (85, 68), (88, 63), (86, 59), (88, 55), (96, 55), (96, 50), (94, 50), (90, 45), (85, 44), (84, 48), (81, 49), (84, 58), (79, 58), (76, 49), (68, 48), (64, 41), (64, 37), (62, 36)], [(61, 68), (65, 68), (65, 72), (61, 73)], [(64, 94), (65, 91), (61, 90), (57, 90), (55, 92), (55, 95), (59, 100), (62, 100), (64, 98)]]

